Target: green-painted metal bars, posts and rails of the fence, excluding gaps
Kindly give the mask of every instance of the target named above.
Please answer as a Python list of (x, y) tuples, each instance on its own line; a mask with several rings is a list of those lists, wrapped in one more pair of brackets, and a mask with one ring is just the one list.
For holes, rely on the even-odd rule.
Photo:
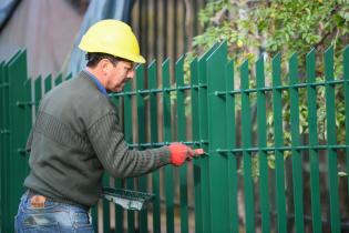
[[(349, 170), (349, 133), (346, 133), (346, 144), (338, 144), (336, 140), (336, 105), (335, 105), (335, 88), (343, 87), (345, 89), (345, 107), (346, 115), (349, 114), (349, 49), (343, 51), (343, 79), (335, 80), (333, 78), (333, 49), (329, 48), (325, 53), (325, 81), (316, 81), (316, 62), (315, 50), (306, 57), (306, 77), (307, 82), (300, 83), (298, 79), (298, 61), (297, 54), (292, 55), (288, 61), (289, 83), (281, 83), (281, 57), (276, 55), (273, 59), (273, 83), (268, 87), (265, 84), (265, 64), (264, 59), (258, 59), (256, 63), (257, 87), (250, 88), (248, 63), (245, 62), (240, 67), (242, 88), (234, 87), (234, 63), (227, 62), (226, 43), (215, 44), (199, 59), (195, 59), (191, 63), (191, 85), (185, 85), (183, 78), (183, 63), (181, 58), (175, 64), (175, 84), (171, 85), (170, 61), (166, 60), (162, 64), (162, 88), (157, 87), (157, 68), (152, 62), (147, 68), (138, 67), (136, 90), (132, 89), (132, 84), (127, 83), (122, 93), (111, 94), (112, 102), (115, 108), (123, 112), (125, 139), (130, 148), (138, 148), (141, 150), (154, 146), (161, 146), (172, 141), (182, 141), (193, 148), (203, 148), (206, 155), (193, 161), (194, 178), (188, 178), (187, 169), (184, 165), (178, 170), (167, 165), (164, 168), (163, 181), (160, 179), (158, 171), (151, 174), (152, 192), (156, 197), (153, 204), (153, 231), (154, 232), (175, 232), (178, 225), (175, 224), (175, 217), (181, 217), (181, 232), (191, 232), (189, 219), (192, 217), (188, 210), (188, 179), (194, 179), (194, 200), (195, 200), (195, 232), (238, 232), (243, 227), (246, 232), (255, 232), (257, 224), (259, 225), (259, 213), (255, 213), (255, 199), (259, 199), (260, 203), (260, 222), (261, 232), (270, 232), (270, 189), (276, 189), (276, 206), (277, 206), (277, 232), (286, 232), (287, 223), (295, 225), (295, 231), (305, 231), (304, 214), (304, 182), (302, 174), (299, 169), (302, 166), (302, 155), (309, 154), (310, 160), (310, 197), (311, 197), (311, 217), (312, 231), (322, 231), (321, 220), (321, 199), (319, 183), (319, 154), (320, 151), (327, 152), (327, 180), (330, 203), (330, 221), (331, 232), (340, 232), (341, 219), (339, 210), (339, 183), (337, 169), (337, 151), (346, 150), (347, 170)], [(38, 111), (39, 101), (42, 92), (47, 92), (52, 88), (51, 75), (42, 82), (39, 77), (34, 82), (27, 80), (27, 58), (25, 53), (20, 51), (10, 59), (9, 62), (0, 63), (0, 232), (13, 232), (13, 215), (17, 212), (19, 196), (23, 192), (22, 182), (27, 175), (28, 156), (23, 153), (30, 126), (32, 124), (31, 112)], [(147, 75), (145, 75), (147, 74)], [(54, 85), (61, 82), (59, 75), (54, 79)], [(287, 75), (286, 75), (287, 77)], [(147, 79), (147, 89), (145, 80)], [(34, 93), (31, 93), (33, 85)], [(319, 144), (317, 132), (317, 88), (325, 88), (326, 91), (326, 116), (327, 116), (327, 144)], [(299, 99), (300, 89), (307, 92), (308, 107), (308, 131), (309, 143), (301, 144), (299, 132)], [(341, 89), (338, 89), (341, 91)], [(291, 125), (291, 145), (284, 143), (283, 129), (283, 102), (284, 93), (289, 92), (290, 122)], [(176, 95), (173, 101), (176, 105), (171, 105), (171, 94)], [(257, 123), (252, 121), (255, 105), (250, 94), (256, 93), (257, 102)], [(31, 100), (34, 95), (34, 101)], [(192, 125), (186, 125), (185, 115), (186, 95), (191, 95), (192, 108)], [(270, 98), (269, 98), (270, 95)], [(271, 97), (273, 95), (273, 97)], [(237, 109), (237, 98), (242, 98), (242, 109)], [(286, 97), (286, 95), (285, 95)], [(271, 102), (271, 101), (273, 102)], [(123, 105), (119, 103), (123, 101)], [(32, 105), (34, 103), (34, 105)], [(148, 103), (148, 104), (147, 104)], [(274, 120), (274, 144), (267, 144), (267, 119), (266, 110), (273, 103)], [(136, 104), (136, 105), (133, 105)], [(163, 108), (163, 109), (161, 109)], [(172, 112), (172, 109), (176, 111)], [(146, 114), (147, 109), (150, 113)], [(135, 110), (135, 111), (134, 111)], [(163, 125), (158, 125), (158, 111), (163, 112)], [(176, 112), (176, 115), (173, 115)], [(242, 112), (242, 145), (236, 143), (236, 113)], [(146, 118), (150, 116), (150, 120)], [(133, 129), (133, 119), (137, 118), (137, 129)], [(174, 122), (172, 123), (172, 119)], [(150, 132), (144, 125), (151, 123)], [(286, 125), (288, 125), (286, 124)], [(349, 131), (349, 120), (346, 119), (346, 132)], [(163, 126), (163, 128), (161, 128)], [(158, 135), (158, 130), (163, 130)], [(193, 139), (187, 139), (187, 129), (192, 129)], [(256, 129), (256, 134), (255, 134)], [(174, 130), (174, 131), (173, 131)], [(137, 142), (133, 142), (133, 132), (137, 132)], [(173, 135), (177, 138), (173, 138)], [(146, 136), (148, 135), (148, 138)], [(253, 136), (256, 136), (254, 139)], [(136, 138), (136, 136), (135, 136)], [(160, 138), (162, 141), (160, 141)], [(253, 145), (253, 141), (257, 145)], [(284, 154), (291, 153), (292, 164), (292, 197), (295, 207), (295, 219), (289, 221), (286, 219), (286, 193)], [(276, 188), (273, 176), (269, 178), (268, 154), (276, 158), (275, 176)], [(240, 156), (243, 155), (243, 156)], [(259, 161), (259, 183), (253, 182), (252, 171), (254, 155)], [(239, 158), (243, 159), (243, 173), (238, 174)], [(13, 166), (16, 164), (16, 166)], [(174, 179), (174, 172), (179, 172), (179, 180)], [(242, 225), (238, 221), (238, 178), (243, 176), (244, 194), (245, 194), (245, 223)], [(348, 179), (349, 180), (349, 179)], [(115, 186), (130, 190), (146, 191), (147, 179), (116, 179)], [(179, 183), (177, 182), (179, 181)], [(162, 184), (164, 192), (161, 192)], [(109, 176), (105, 176), (104, 184), (109, 185)], [(258, 184), (258, 185), (257, 185)], [(256, 186), (255, 186), (256, 185)], [(175, 188), (179, 188), (179, 215), (175, 215)], [(322, 186), (321, 186), (322, 188)], [(254, 189), (258, 189), (256, 192)], [(166, 209), (166, 227), (162, 229), (161, 195), (165, 196)], [(258, 195), (259, 194), (259, 195)], [(290, 194), (290, 193), (289, 193)], [(257, 202), (256, 202), (257, 203)], [(325, 204), (326, 205), (326, 204)], [(103, 207), (103, 229), (110, 232), (110, 203), (104, 202)], [(177, 210), (177, 209), (176, 209)], [(97, 213), (93, 209), (93, 222), (96, 227)], [(115, 231), (123, 231), (124, 212), (116, 206), (115, 212)], [(136, 226), (141, 232), (147, 232), (147, 212), (142, 212), (135, 217), (133, 211), (127, 211), (127, 232), (135, 232)], [(258, 220), (257, 220), (258, 219)], [(243, 226), (243, 227), (240, 227)], [(97, 231), (97, 229), (95, 229)]]

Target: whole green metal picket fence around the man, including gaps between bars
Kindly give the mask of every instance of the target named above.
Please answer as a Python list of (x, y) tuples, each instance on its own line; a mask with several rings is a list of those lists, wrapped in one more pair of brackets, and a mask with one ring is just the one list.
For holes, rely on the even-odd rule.
[[(271, 72), (264, 58), (254, 65), (246, 61), (235, 68), (227, 60), (226, 43), (214, 45), (189, 64), (191, 81), (185, 80), (184, 58), (175, 63), (175, 77), (170, 75), (168, 60), (161, 69), (156, 62), (138, 67), (134, 82), (124, 92), (110, 95), (121, 110), (130, 148), (143, 150), (182, 141), (203, 148), (206, 155), (137, 179), (105, 175), (106, 186), (152, 192), (156, 197), (137, 213), (101, 201), (92, 210), (96, 231), (348, 230), (349, 182), (348, 175), (339, 172), (349, 171), (349, 120), (339, 128), (336, 114), (349, 113), (349, 48), (342, 54), (342, 75), (335, 77), (333, 49), (324, 53), (324, 80), (316, 79), (314, 50), (307, 54), (305, 74), (300, 75), (297, 54), (284, 64), (286, 73), (280, 54), (271, 60)], [(31, 82), (25, 52), (0, 63), (3, 233), (13, 232), (22, 182), (29, 172), (23, 148), (32, 115), (42, 94), (65, 79), (48, 75)], [(325, 91), (325, 101), (320, 91)], [(337, 108), (338, 101), (345, 101), (345, 110)], [(300, 103), (306, 103), (307, 131), (299, 126)], [(327, 140), (319, 138), (320, 105), (326, 107), (326, 130), (321, 128), (321, 132)], [(343, 142), (337, 140), (339, 131), (346, 132)], [(290, 141), (285, 140), (287, 132)]]

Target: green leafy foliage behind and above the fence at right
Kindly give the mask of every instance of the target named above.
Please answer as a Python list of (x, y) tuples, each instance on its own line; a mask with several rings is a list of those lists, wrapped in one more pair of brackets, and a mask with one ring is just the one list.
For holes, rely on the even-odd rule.
[[(205, 31), (193, 40), (193, 50), (186, 57), (186, 79), (189, 79), (191, 61), (207, 51), (216, 42), (227, 41), (229, 59), (238, 68), (246, 59), (253, 64), (264, 55), (266, 69), (270, 71), (270, 61), (277, 52), (283, 55), (283, 83), (288, 83), (287, 60), (298, 54), (299, 82), (305, 82), (305, 57), (315, 49), (317, 51), (317, 81), (324, 81), (321, 57), (327, 48), (335, 50), (335, 75), (342, 79), (341, 52), (349, 43), (349, 1), (348, 0), (218, 0), (208, 2), (199, 12), (199, 22)], [(238, 73), (238, 72), (236, 72)], [(254, 69), (250, 65), (254, 77)], [(270, 85), (270, 72), (266, 72), (266, 85)], [(238, 80), (238, 79), (236, 79)], [(235, 88), (239, 88), (236, 81)], [(255, 88), (252, 79), (250, 88)], [(300, 132), (306, 135), (308, 129), (307, 98), (304, 89), (299, 90)], [(283, 92), (284, 104), (284, 141), (290, 145), (289, 94)], [(256, 101), (256, 99), (253, 99)], [(237, 101), (238, 103), (239, 101)], [(326, 104), (325, 88), (318, 89), (318, 133), (320, 143), (326, 142)], [(237, 105), (237, 111), (239, 107)], [(345, 143), (345, 103), (343, 89), (336, 88), (336, 124), (338, 144)], [(274, 144), (273, 111), (267, 109), (268, 144)], [(285, 153), (287, 158), (290, 153)], [(274, 155), (269, 156), (269, 165), (274, 168)], [(258, 163), (255, 161), (255, 174), (258, 174)], [(340, 171), (341, 175), (346, 172)]]

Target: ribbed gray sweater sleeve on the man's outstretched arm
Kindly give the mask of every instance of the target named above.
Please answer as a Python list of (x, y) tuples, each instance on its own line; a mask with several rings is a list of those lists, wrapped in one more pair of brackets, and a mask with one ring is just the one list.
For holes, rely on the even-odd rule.
[(109, 113), (89, 128), (91, 144), (103, 168), (114, 178), (138, 176), (170, 163), (167, 146), (129, 150), (116, 113)]

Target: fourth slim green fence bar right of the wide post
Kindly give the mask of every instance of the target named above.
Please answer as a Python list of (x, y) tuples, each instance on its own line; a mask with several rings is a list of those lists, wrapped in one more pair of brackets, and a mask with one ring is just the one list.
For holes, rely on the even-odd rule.
[(274, 114), (274, 141), (275, 141), (275, 172), (276, 172), (276, 201), (278, 232), (286, 233), (286, 197), (285, 197), (285, 174), (284, 152), (279, 149), (284, 145), (283, 135), (283, 103), (281, 90), (281, 55), (273, 59), (273, 114)]

